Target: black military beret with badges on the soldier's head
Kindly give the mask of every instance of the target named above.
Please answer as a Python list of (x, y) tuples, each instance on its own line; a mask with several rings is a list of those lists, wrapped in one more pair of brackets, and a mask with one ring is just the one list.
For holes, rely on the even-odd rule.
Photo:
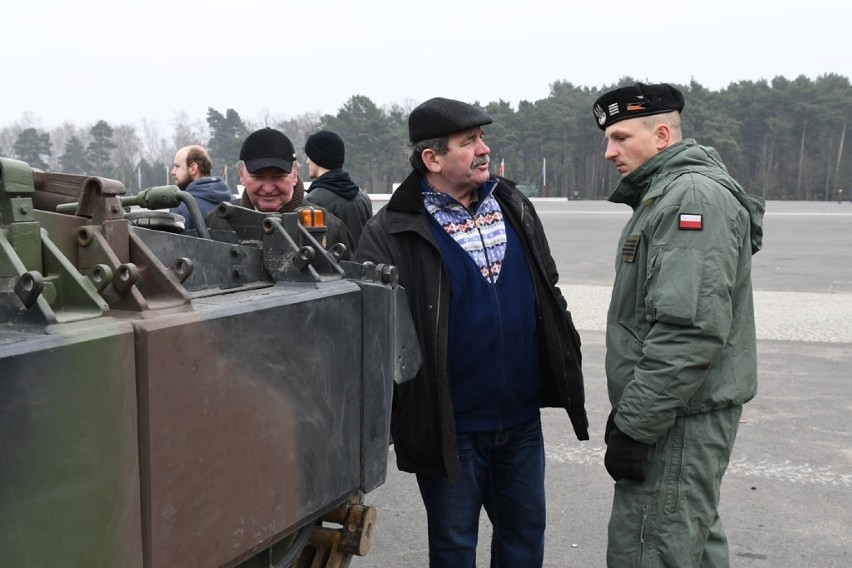
[(666, 83), (636, 83), (601, 95), (593, 112), (601, 130), (620, 120), (683, 110), (683, 95)]

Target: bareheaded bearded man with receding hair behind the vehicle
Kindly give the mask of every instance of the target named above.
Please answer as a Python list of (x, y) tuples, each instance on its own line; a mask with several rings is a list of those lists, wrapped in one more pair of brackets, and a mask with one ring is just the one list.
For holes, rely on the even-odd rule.
[[(175, 185), (195, 198), (202, 215), (207, 215), (217, 205), (234, 197), (222, 178), (210, 175), (212, 168), (210, 156), (201, 146), (185, 146), (175, 154), (171, 171)], [(183, 216), (184, 229), (196, 228), (185, 203), (169, 209), (169, 212)]]

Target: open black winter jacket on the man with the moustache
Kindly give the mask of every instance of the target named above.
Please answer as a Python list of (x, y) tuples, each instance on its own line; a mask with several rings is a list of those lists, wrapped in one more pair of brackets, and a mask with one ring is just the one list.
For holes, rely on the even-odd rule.
[[(429, 229), (419, 176), (412, 172), (367, 223), (355, 260), (397, 267), (423, 352), (417, 376), (394, 390), (391, 435), (397, 466), (456, 481), (461, 471), (446, 364), (450, 286)], [(556, 263), (532, 203), (513, 182), (498, 179), (493, 194), (504, 219), (521, 237), (536, 290), (544, 375), (541, 406), (565, 408), (577, 439), (588, 440), (580, 337), (556, 286)]]

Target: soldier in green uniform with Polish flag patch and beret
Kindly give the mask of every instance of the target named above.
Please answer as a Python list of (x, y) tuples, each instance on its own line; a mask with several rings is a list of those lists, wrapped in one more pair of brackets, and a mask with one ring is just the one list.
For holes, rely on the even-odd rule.
[(714, 149), (683, 139), (683, 107), (674, 87), (639, 83), (593, 109), (622, 175), (609, 199), (633, 209), (607, 315), (611, 567), (728, 566), (720, 487), (757, 392), (751, 256), (764, 203)]

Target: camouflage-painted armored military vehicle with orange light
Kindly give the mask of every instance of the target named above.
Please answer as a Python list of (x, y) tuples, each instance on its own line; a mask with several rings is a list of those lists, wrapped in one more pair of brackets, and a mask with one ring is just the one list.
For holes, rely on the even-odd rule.
[(310, 208), (182, 232), (163, 210), (191, 199), (0, 159), (0, 565), (368, 551), (420, 365), (395, 268), (324, 249)]

